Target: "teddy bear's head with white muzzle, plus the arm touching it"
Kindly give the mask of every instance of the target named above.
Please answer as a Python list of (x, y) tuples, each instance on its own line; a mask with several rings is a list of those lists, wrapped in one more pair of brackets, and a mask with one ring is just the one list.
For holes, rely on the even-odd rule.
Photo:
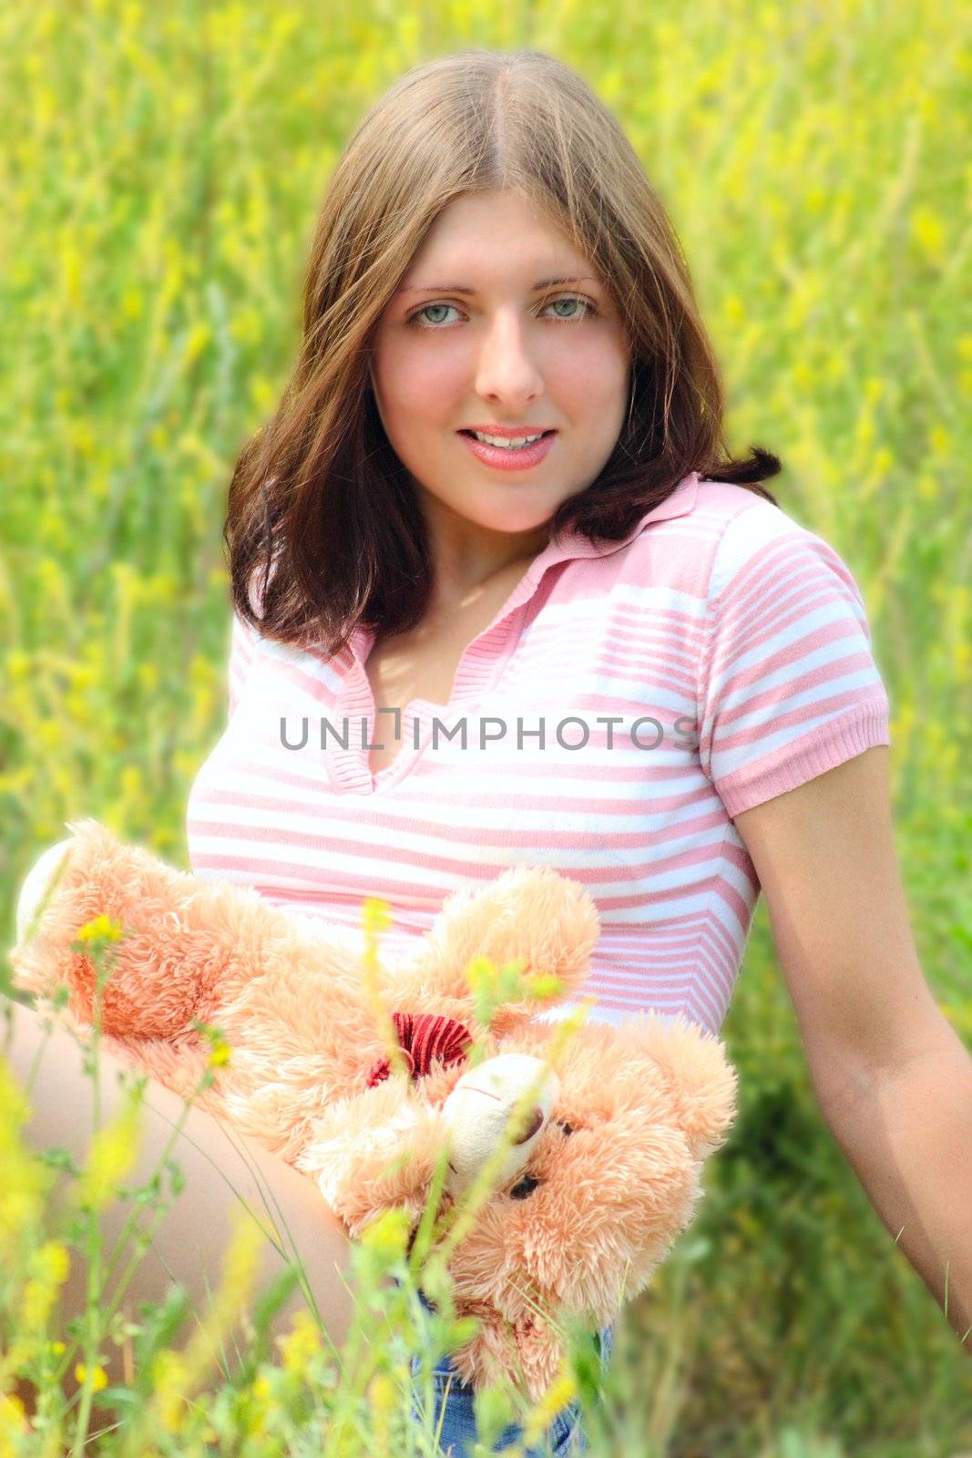
[[(554, 1044), (560, 1048), (554, 1053)], [(491, 1193), (449, 1257), (456, 1311), (479, 1334), (453, 1362), (538, 1398), (563, 1360), (558, 1314), (603, 1325), (641, 1292), (702, 1196), (707, 1155), (734, 1114), (736, 1073), (717, 1038), (643, 1013), (621, 1028), (519, 1024), (487, 1056), (428, 1077), (389, 1079), (328, 1111), (300, 1166), (353, 1233), (389, 1204), (418, 1226), (449, 1150), (440, 1213), (462, 1207), (478, 1166), (532, 1089)]]

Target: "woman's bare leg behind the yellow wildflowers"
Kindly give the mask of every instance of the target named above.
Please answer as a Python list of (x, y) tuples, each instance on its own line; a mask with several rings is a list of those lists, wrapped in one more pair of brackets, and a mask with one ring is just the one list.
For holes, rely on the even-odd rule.
[[(13, 1015), (9, 1041), (6, 1009)], [(10, 1064), (15, 1079), (26, 1091), (32, 1110), (32, 1117), (23, 1127), (28, 1147), (41, 1152), (54, 1145), (61, 1146), (79, 1166), (83, 1166), (93, 1127), (93, 1080), (83, 1072), (83, 1050), (77, 1038), (57, 1024), (48, 1032), (44, 1021), (35, 1009), (0, 996), (0, 1053)], [(102, 1124), (112, 1120), (122, 1108), (125, 1091), (118, 1082), (122, 1070), (128, 1070), (131, 1076), (128, 1064), (99, 1050)], [(29, 1088), (28, 1080), (31, 1080)], [(273, 1232), (275, 1226), (291, 1260), (294, 1251), (302, 1260), (307, 1286), (328, 1337), (340, 1349), (353, 1314), (353, 1298), (345, 1284), (351, 1266), (350, 1242), (316, 1185), (283, 1159), (239, 1134), (232, 1124), (198, 1108), (185, 1112), (182, 1099), (156, 1080), (149, 1080), (143, 1105), (140, 1155), (124, 1182), (144, 1184), (152, 1177), (162, 1162), (173, 1126), (185, 1114), (182, 1131), (169, 1153), (185, 1177), (185, 1187), (165, 1215), (153, 1245), (138, 1261), (122, 1308), (134, 1318), (140, 1302), (159, 1302), (171, 1282), (178, 1280), (191, 1298), (192, 1311), (204, 1317), (210, 1308), (208, 1293), (214, 1293), (220, 1284), (223, 1257), (232, 1231), (230, 1217), (235, 1212), (239, 1213), (243, 1200), (265, 1229)], [(240, 1149), (245, 1153), (240, 1153)], [(66, 1193), (66, 1180), (67, 1177), (61, 1177), (54, 1188), (55, 1201)], [(165, 1178), (163, 1188), (168, 1191)], [(102, 1270), (111, 1258), (131, 1209), (131, 1201), (115, 1201), (102, 1213)], [(153, 1210), (146, 1207), (138, 1216), (138, 1223), (147, 1231), (152, 1222)], [(118, 1271), (128, 1266), (131, 1254), (133, 1245), (128, 1244), (115, 1277), (108, 1284), (109, 1302)], [(286, 1264), (268, 1239), (254, 1299), (271, 1284)], [(86, 1303), (87, 1267), (80, 1252), (73, 1250), (71, 1271), (61, 1287), (61, 1327), (80, 1315)], [(297, 1287), (271, 1322), (271, 1334), (287, 1331), (293, 1314), (307, 1305), (306, 1296)], [(179, 1338), (181, 1344), (188, 1343), (195, 1330), (195, 1322), (189, 1322)], [(233, 1350), (233, 1336), (239, 1338), (239, 1333), (226, 1334), (227, 1352)], [(105, 1340), (101, 1350), (109, 1382), (131, 1381), (131, 1372), (124, 1369), (122, 1349)]]

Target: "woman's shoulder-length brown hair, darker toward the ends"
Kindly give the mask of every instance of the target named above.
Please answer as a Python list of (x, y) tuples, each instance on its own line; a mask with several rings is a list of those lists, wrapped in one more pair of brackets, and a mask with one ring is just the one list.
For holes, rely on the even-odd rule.
[(377, 319), (437, 214), (485, 190), (516, 191), (570, 238), (631, 341), (625, 426), (597, 478), (561, 502), (552, 534), (570, 525), (618, 541), (689, 471), (778, 504), (758, 483), (780, 459), (759, 446), (749, 459), (729, 455), (720, 367), (688, 265), (616, 118), (544, 51), (460, 51), (407, 71), (344, 149), (313, 232), (293, 375), (236, 461), (223, 529), (230, 592), (267, 637), (331, 656), (358, 623), (380, 637), (426, 614), (427, 526), (369, 362)]

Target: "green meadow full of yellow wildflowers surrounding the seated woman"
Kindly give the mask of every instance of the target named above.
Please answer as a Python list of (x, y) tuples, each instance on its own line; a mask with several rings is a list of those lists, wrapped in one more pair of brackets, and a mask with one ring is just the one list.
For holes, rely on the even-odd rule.
[[(780, 455), (780, 506), (861, 588), (915, 940), (972, 1047), (971, 41), (955, 0), (3, 7), (6, 945), (22, 876), (68, 819), (188, 866), (188, 789), (226, 719), (226, 488), (296, 353), (331, 169), (408, 67), (529, 47), (625, 127), (685, 246), (730, 445)], [(592, 1454), (972, 1452), (969, 1354), (823, 1124), (762, 901), (723, 1037), (739, 1120), (694, 1226), (624, 1311), (602, 1403), (579, 1368)], [(238, 1360), (216, 1343), (189, 1388), (172, 1312), (149, 1312), (128, 1334), (143, 1371), (114, 1395), (138, 1448), (125, 1426), (92, 1439), (96, 1334), (71, 1357), (55, 1299), (70, 1241), (45, 1223), (22, 1117), (0, 1079), (0, 1394), (13, 1350), (45, 1414), (28, 1430), (0, 1395), (0, 1458), (434, 1452), (408, 1422), (408, 1353), (428, 1334), (404, 1299), (337, 1385), (307, 1321)], [(363, 1289), (404, 1270), (399, 1236), (361, 1251)], [(230, 1296), (240, 1241), (214, 1273)]]

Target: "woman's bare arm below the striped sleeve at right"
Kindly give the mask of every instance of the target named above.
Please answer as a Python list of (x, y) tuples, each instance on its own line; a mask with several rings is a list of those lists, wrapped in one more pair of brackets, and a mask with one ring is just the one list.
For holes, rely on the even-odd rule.
[(879, 745), (734, 818), (828, 1128), (972, 1354), (972, 1057), (936, 1003)]

